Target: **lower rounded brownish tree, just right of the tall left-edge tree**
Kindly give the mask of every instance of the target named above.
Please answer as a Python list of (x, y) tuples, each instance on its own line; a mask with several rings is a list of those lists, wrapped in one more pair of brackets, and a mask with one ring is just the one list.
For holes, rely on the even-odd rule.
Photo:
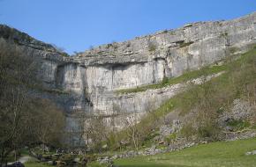
[(26, 107), (26, 130), (36, 142), (60, 147), (64, 134), (64, 113), (49, 99), (31, 100)]

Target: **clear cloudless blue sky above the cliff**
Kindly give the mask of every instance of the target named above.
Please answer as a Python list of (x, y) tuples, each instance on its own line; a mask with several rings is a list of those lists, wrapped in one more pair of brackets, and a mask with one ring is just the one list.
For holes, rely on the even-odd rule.
[(72, 54), (189, 22), (256, 11), (256, 0), (0, 0), (0, 24)]

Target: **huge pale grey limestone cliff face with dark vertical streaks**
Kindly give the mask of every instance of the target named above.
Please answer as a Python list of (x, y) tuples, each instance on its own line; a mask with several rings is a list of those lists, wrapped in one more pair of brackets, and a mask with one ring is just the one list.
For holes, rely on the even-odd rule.
[(54, 99), (67, 113), (141, 113), (155, 99), (161, 104), (173, 96), (176, 88), (121, 95), (115, 91), (159, 83), (164, 77), (180, 76), (244, 52), (256, 42), (256, 13), (230, 21), (187, 24), (73, 56), (6, 25), (0, 25), (0, 39), (40, 58), (39, 75), (48, 90), (40, 96)]

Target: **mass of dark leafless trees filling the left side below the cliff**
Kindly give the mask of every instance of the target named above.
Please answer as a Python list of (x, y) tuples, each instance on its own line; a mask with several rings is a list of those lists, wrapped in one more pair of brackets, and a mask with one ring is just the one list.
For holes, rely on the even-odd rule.
[(0, 164), (11, 151), (34, 143), (56, 144), (61, 137), (63, 113), (49, 100), (32, 96), (31, 88), (39, 83), (37, 65), (0, 40)]

